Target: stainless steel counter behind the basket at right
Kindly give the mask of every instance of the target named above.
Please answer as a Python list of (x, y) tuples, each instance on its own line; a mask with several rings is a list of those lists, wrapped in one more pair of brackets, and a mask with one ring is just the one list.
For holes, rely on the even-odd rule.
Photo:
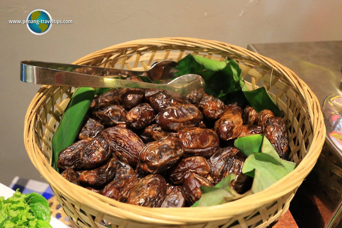
[(249, 44), (249, 50), (294, 71), (315, 93), (327, 137), (290, 211), (299, 228), (342, 227), (342, 41)]

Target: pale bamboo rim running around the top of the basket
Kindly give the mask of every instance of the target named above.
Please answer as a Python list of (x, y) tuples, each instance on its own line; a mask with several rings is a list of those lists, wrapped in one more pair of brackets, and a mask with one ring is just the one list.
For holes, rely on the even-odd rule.
[[(34, 110), (28, 110), (27, 114), (25, 116), (25, 129), (24, 129), (24, 139), (25, 139), (25, 147), (27, 152), (30, 155), (30, 159), (32, 163), (36, 166), (38, 171), (41, 173), (41, 175), (47, 179), (51, 185), (51, 182), (54, 184), (54, 188), (57, 189), (60, 192), (66, 193), (67, 191), (74, 192), (73, 189), (77, 189), (78, 192), (82, 192), (81, 195), (88, 196), (89, 200), (97, 200), (99, 201), (99, 207), (98, 209), (103, 214), (119, 214), (118, 210), (114, 209), (120, 209), (120, 210), (127, 210), (127, 211), (133, 211), (137, 213), (141, 213), (143, 215), (150, 214), (155, 219), (156, 216), (158, 218), (166, 219), (172, 221), (175, 218), (175, 215), (169, 216), (167, 212), (172, 211), (172, 213), (177, 214), (177, 218), (184, 221), (191, 221), (193, 223), (198, 223), (201, 221), (208, 221), (208, 220), (217, 220), (222, 217), (225, 217), (227, 215), (233, 215), (236, 213), (244, 213), (247, 211), (255, 210), (255, 207), (261, 206), (263, 204), (266, 204), (268, 202), (272, 202), (275, 199), (278, 199), (279, 197), (284, 195), (284, 192), (291, 192), (295, 191), (295, 189), (298, 187), (293, 184), (293, 182), (301, 183), (303, 179), (308, 175), (308, 173), (311, 171), (311, 169), (308, 169), (308, 167), (313, 167), (316, 163), (321, 148), (324, 144), (326, 130), (325, 130), (325, 124), (323, 119), (323, 114), (320, 111), (320, 105), (318, 103), (317, 97), (314, 95), (314, 93), (308, 88), (308, 86), (297, 76), (293, 71), (288, 69), (285, 66), (282, 66), (281, 64), (273, 61), (272, 59), (269, 59), (265, 56), (262, 56), (258, 53), (249, 51), (247, 49), (241, 48), (236, 45), (227, 44), (220, 41), (215, 40), (204, 40), (204, 39), (196, 39), (196, 38), (187, 38), (187, 37), (164, 37), (164, 38), (152, 38), (152, 39), (138, 39), (138, 40), (131, 40), (128, 42), (124, 42), (121, 44), (116, 44), (113, 46), (110, 46), (108, 48), (101, 49), (99, 51), (90, 53), (77, 61), (75, 61), (73, 64), (84, 64), (89, 63), (90, 57), (96, 56), (96, 55), (103, 55), (104, 53), (112, 52), (113, 50), (118, 50), (122, 48), (127, 48), (128, 46), (156, 46), (159, 45), (166, 45), (166, 44), (175, 44), (175, 45), (183, 45), (186, 47), (186, 45), (196, 45), (200, 48), (213, 48), (213, 45), (215, 48), (218, 48), (222, 51), (232, 51), (233, 53), (244, 55), (246, 57), (252, 57), (255, 61), (261, 62), (265, 65), (267, 65), (270, 68), (273, 68), (275, 70), (278, 70), (279, 72), (282, 72), (284, 75), (291, 75), (291, 79), (295, 79), (295, 84), (299, 86), (301, 89), (301, 93), (304, 93), (305, 97), (307, 97), (306, 105), (308, 107), (313, 107), (311, 110), (312, 113), (310, 113), (311, 121), (316, 123), (317, 126), (313, 126), (313, 138), (316, 140), (315, 147), (311, 146), (309, 150), (307, 151), (307, 154), (302, 159), (300, 163), (298, 163), (297, 167), (286, 175), (285, 177), (281, 178), (273, 184), (272, 186), (268, 187), (267, 189), (254, 193), (252, 195), (246, 196), (244, 198), (238, 199), (236, 201), (215, 205), (215, 206), (208, 206), (206, 207), (206, 212), (203, 213), (203, 207), (185, 207), (185, 208), (149, 208), (149, 207), (141, 207), (137, 205), (131, 205), (127, 203), (118, 202), (114, 199), (107, 198), (105, 196), (102, 196), (98, 193), (89, 191), (88, 189), (82, 188), (80, 186), (75, 187), (75, 185), (72, 185), (72, 183), (69, 183), (66, 179), (64, 179), (57, 171), (53, 170), (52, 167), (48, 166), (38, 166), (35, 164), (37, 162), (37, 158), (32, 158), (30, 154), (30, 148), (28, 146), (29, 140), (28, 140), (28, 131), (29, 127), (26, 125), (30, 125), (31, 121), (34, 121), (34, 118), (32, 115), (34, 115)], [(186, 48), (185, 48), (186, 49)], [(87, 62), (88, 61), (88, 62)], [(48, 88), (48, 89), (54, 89), (57, 88), (57, 86), (42, 86), (42, 88)], [(35, 96), (34, 99), (32, 99), (31, 104), (35, 106), (37, 102), (39, 102), (39, 99), (41, 96)], [(30, 107), (31, 107), (30, 104)], [(309, 108), (310, 109), (310, 108)], [(319, 126), (319, 128), (318, 128)], [(36, 148), (39, 149), (39, 148)], [(39, 151), (40, 152), (40, 151)], [(52, 170), (50, 170), (52, 169)], [(47, 172), (48, 171), (48, 172)], [(48, 174), (58, 174), (54, 178), (51, 178)], [(58, 183), (63, 183), (67, 186), (67, 189), (62, 189)], [(255, 199), (258, 199), (255, 201)], [(108, 204), (109, 203), (109, 204)], [(229, 209), (229, 210), (227, 210)], [(193, 219), (189, 219), (189, 215), (191, 214)], [(122, 216), (124, 216), (122, 214)], [(133, 216), (134, 217), (134, 216)], [(139, 216), (138, 216), (139, 217)], [(140, 218), (140, 217), (139, 217)], [(178, 221), (180, 221), (178, 220)], [(145, 218), (146, 222), (150, 222), (148, 218)], [(177, 223), (177, 222), (175, 222)]]

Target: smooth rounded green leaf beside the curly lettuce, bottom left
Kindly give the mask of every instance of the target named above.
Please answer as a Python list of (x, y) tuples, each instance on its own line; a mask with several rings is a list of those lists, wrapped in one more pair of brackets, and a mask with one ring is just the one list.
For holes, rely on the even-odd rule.
[(30, 206), (30, 212), (38, 219), (50, 222), (51, 211), (48, 201), (36, 192), (32, 192), (25, 197), (26, 203)]

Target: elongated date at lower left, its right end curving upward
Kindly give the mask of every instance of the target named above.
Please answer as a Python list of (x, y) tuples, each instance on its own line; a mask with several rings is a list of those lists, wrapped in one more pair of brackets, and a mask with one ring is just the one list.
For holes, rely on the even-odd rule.
[(97, 169), (83, 171), (78, 177), (78, 181), (82, 184), (104, 185), (113, 179), (116, 173), (116, 162), (116, 158), (111, 158)]

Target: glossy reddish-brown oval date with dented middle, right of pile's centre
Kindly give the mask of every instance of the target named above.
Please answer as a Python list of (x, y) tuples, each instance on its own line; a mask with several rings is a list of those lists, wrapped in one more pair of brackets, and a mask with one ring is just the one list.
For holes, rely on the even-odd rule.
[(183, 143), (185, 156), (210, 157), (220, 146), (220, 139), (210, 129), (183, 128), (178, 131), (178, 137)]

